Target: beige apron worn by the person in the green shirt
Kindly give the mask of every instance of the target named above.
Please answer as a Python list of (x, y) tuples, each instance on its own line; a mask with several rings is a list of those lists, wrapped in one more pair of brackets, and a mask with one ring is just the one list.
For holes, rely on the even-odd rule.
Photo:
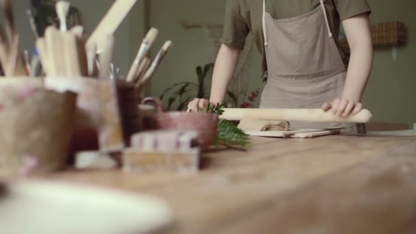
[[(263, 34), (268, 75), (260, 108), (320, 108), (341, 97), (346, 66), (330, 32), (323, 0), (321, 8), (294, 18), (276, 20), (265, 11)], [(346, 127), (337, 122), (291, 122), (291, 128)]]

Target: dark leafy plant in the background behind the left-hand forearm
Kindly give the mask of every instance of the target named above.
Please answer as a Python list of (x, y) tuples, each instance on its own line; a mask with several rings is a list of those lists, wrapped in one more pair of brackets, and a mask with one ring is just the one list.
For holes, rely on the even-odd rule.
[[(206, 64), (204, 67), (196, 67), (196, 75), (198, 82), (179, 82), (174, 83), (172, 86), (167, 88), (159, 97), (161, 101), (166, 99), (166, 96), (170, 94), (166, 103), (166, 110), (183, 110), (187, 107), (192, 99), (209, 99), (209, 92), (207, 92), (207, 77), (213, 68), (213, 64)], [(237, 96), (233, 92), (227, 92), (227, 97), (231, 99), (235, 105), (237, 104)], [(177, 103), (177, 107), (172, 106)]]

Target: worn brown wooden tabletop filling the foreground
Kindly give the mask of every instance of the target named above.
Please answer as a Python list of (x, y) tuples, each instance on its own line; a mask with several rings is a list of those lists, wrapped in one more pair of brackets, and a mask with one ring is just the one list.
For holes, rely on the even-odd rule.
[(253, 138), (192, 175), (63, 172), (49, 179), (159, 196), (166, 233), (416, 233), (416, 138)]

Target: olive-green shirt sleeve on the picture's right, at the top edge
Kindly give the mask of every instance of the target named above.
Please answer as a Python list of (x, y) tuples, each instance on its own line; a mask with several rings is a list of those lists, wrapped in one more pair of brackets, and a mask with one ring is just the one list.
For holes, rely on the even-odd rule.
[(341, 21), (363, 13), (371, 14), (367, 0), (335, 0), (335, 6)]

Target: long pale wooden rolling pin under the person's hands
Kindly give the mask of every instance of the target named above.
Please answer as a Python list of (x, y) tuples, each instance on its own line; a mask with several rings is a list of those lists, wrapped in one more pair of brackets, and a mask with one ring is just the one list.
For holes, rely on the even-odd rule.
[(307, 122), (354, 122), (366, 123), (372, 118), (367, 109), (359, 114), (349, 117), (335, 116), (332, 112), (324, 112), (322, 109), (250, 109), (250, 108), (225, 108), (220, 118), (226, 120), (242, 120), (242, 118), (255, 118), (258, 120), (285, 120)]

